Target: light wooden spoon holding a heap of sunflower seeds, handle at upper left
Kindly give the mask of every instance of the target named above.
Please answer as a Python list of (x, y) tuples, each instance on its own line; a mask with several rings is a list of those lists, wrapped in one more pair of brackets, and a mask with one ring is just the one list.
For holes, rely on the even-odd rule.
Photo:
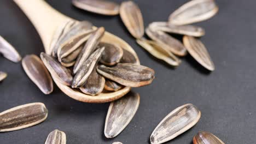
[[(49, 53), (49, 46), (51, 43), (51, 39), (53, 38), (55, 29), (59, 27), (61, 23), (73, 19), (53, 9), (43, 0), (14, 0), (14, 2), (19, 5), (21, 10), (24, 11), (28, 19), (30, 19), (30, 21), (33, 23), (34, 27), (36, 27), (37, 32), (39, 33), (40, 38), (43, 41), (45, 52)], [(136, 59), (138, 59), (138, 56), (132, 49), (132, 47), (119, 37), (111, 33), (105, 32), (102, 40), (110, 41), (111, 43), (120, 45), (121, 47), (123, 47), (123, 49), (131, 52), (136, 57)], [(137, 61), (137, 64), (139, 64), (139, 61)], [(86, 103), (106, 103), (109, 101), (113, 101), (123, 97), (131, 89), (131, 87), (124, 87), (117, 92), (101, 93), (97, 96), (91, 96), (76, 91), (71, 87), (62, 85), (61, 83), (56, 81), (55, 77), (53, 77), (53, 80), (55, 81), (56, 85), (61, 89), (61, 91), (67, 94), (69, 97)]]

